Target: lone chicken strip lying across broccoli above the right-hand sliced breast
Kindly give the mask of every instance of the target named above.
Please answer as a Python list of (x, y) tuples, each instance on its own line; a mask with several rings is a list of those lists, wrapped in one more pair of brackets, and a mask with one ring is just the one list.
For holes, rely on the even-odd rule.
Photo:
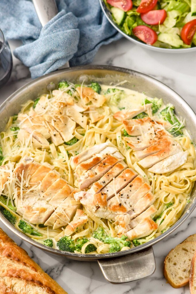
[(149, 104), (138, 106), (138, 108), (133, 110), (123, 109), (121, 111), (117, 111), (116, 113), (114, 113), (114, 118), (117, 119), (118, 121), (128, 120), (140, 114), (141, 112), (147, 111), (148, 109), (151, 108), (151, 106), (152, 106), (152, 103), (149, 103)]

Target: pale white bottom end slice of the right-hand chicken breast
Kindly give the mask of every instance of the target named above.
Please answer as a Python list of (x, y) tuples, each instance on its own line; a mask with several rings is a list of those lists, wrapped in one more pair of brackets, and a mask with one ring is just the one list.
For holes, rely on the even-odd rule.
[(159, 161), (149, 168), (148, 171), (151, 173), (170, 173), (184, 164), (187, 161), (187, 156), (188, 151), (180, 151), (163, 159), (162, 161)]

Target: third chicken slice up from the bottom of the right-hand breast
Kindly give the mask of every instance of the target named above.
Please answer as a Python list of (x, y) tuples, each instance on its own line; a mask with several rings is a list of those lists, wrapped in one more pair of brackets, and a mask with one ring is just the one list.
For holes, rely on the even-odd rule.
[(142, 151), (136, 151), (136, 152), (133, 152), (133, 154), (138, 158), (138, 159), (143, 159), (149, 155), (152, 155), (154, 153), (157, 153), (169, 146), (172, 146), (172, 144), (174, 143), (173, 140), (171, 139), (166, 139), (163, 140), (163, 141), (160, 141), (159, 143), (157, 144), (154, 144), (154, 145), (151, 145), (150, 147), (148, 148), (145, 148), (144, 150)]

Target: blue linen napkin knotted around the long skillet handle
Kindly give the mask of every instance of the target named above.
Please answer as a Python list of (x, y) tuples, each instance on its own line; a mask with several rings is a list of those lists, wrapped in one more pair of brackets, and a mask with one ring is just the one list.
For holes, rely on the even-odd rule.
[[(47, 0), (46, 0), (47, 1)], [(36, 78), (70, 62), (92, 62), (101, 45), (122, 37), (107, 21), (99, 0), (56, 0), (59, 13), (43, 28), (29, 0), (1, 0), (0, 28), (23, 45), (14, 55)]]

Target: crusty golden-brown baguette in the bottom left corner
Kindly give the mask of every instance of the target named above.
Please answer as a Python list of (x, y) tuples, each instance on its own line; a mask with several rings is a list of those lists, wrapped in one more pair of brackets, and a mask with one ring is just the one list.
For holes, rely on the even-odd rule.
[(25, 289), (24, 294), (67, 294), (1, 228), (0, 264), (0, 289), (6, 293), (18, 294)]

